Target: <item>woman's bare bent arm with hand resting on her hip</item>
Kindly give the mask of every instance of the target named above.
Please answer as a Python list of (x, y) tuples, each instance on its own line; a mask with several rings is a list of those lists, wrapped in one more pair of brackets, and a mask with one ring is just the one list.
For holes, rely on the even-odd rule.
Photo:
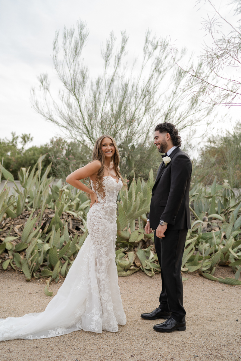
[(96, 202), (98, 203), (98, 198), (95, 192), (88, 188), (85, 184), (79, 182), (80, 179), (85, 179), (91, 177), (91, 175), (96, 174), (101, 167), (101, 163), (98, 160), (91, 162), (85, 165), (82, 168), (75, 170), (73, 173), (69, 174), (66, 178), (66, 182), (71, 184), (71, 186), (80, 189), (86, 193), (90, 194), (90, 207)]

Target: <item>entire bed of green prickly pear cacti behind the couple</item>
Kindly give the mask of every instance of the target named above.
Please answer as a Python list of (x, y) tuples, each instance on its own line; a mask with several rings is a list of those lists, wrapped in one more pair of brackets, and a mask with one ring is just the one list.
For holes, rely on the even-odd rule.
[[(6, 217), (14, 220), (23, 214), (29, 216), (22, 231), (14, 227), (13, 232), (12, 226), (7, 233), (0, 229), (0, 263), (4, 270), (8, 266), (22, 270), (27, 280), (46, 278), (45, 293), (51, 296), (49, 283), (68, 273), (88, 235), (86, 214), (90, 201), (84, 192), (62, 183), (61, 179), (54, 183), (48, 178), (50, 167), (41, 175), (42, 160), (40, 157), (31, 172), (20, 170), (21, 187), (0, 165), (0, 179), (3, 173), (15, 183), (14, 194), (9, 196), (7, 182), (0, 192), (0, 225), (5, 225)], [(116, 240), (119, 276), (142, 270), (151, 277), (160, 272), (154, 234), (146, 234), (144, 230), (153, 184), (151, 170), (147, 182), (133, 178), (129, 189), (119, 193)], [(198, 271), (211, 280), (241, 284), (241, 203), (228, 181), (221, 185), (215, 178), (211, 188), (200, 183), (194, 185), (190, 191), (190, 210), (191, 229), (186, 238), (182, 273)], [(81, 222), (81, 231), (72, 230), (74, 219)], [(232, 267), (234, 278), (215, 277), (217, 265)]]

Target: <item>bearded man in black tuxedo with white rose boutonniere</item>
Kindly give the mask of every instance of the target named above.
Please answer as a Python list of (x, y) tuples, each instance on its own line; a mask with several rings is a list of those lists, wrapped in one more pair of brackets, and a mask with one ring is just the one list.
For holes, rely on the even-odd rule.
[(186, 235), (190, 229), (189, 187), (191, 160), (180, 149), (181, 138), (171, 123), (160, 123), (155, 128), (154, 144), (165, 153), (152, 188), (150, 213), (146, 233), (155, 230), (155, 249), (161, 267), (162, 292), (160, 305), (145, 319), (166, 319), (154, 330), (172, 332), (186, 330), (181, 277), (182, 255)]

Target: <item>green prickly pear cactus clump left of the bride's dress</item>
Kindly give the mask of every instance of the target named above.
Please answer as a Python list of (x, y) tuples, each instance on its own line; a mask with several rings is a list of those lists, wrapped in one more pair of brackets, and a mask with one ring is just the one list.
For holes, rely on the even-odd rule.
[[(43, 157), (40, 157), (34, 167), (35, 170), (38, 166), (35, 174), (34, 171), (29, 174), (29, 170), (21, 169), (19, 173), (21, 187), (17, 187), (10, 178), (10, 173), (3, 166), (1, 167), (5, 178), (8, 177), (14, 182), (16, 194), (8, 197), (9, 187), (6, 182), (0, 193), (0, 221), (4, 213), (8, 217), (16, 218), (25, 209), (29, 210), (30, 214), (21, 234), (18, 232), (18, 236), (11, 236), (10, 229), (0, 244), (0, 255), (4, 252), (8, 254), (7, 259), (2, 263), (4, 270), (10, 265), (13, 269), (22, 270), (26, 280), (40, 276), (48, 278), (45, 293), (51, 295), (48, 291), (49, 282), (53, 279), (57, 282), (60, 275), (64, 277), (68, 273), (87, 237), (86, 213), (90, 201), (82, 191), (67, 184), (62, 186), (61, 179), (54, 184), (52, 178), (47, 178), (49, 169), (41, 176), (42, 159)], [(36, 207), (36, 211), (33, 207)], [(46, 210), (52, 210), (53, 213), (52, 218), (47, 218), (48, 222), (43, 220)], [(63, 214), (81, 219), (82, 235), (69, 234), (68, 222), (72, 220), (67, 216), (64, 219)], [(19, 242), (20, 236), (21, 242)], [(2, 260), (1, 258), (0, 262)]]

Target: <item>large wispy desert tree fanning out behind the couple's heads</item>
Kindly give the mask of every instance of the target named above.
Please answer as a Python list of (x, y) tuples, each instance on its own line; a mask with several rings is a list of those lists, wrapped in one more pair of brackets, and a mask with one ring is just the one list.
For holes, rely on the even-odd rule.
[[(129, 66), (128, 35), (121, 31), (118, 45), (111, 32), (101, 48), (103, 71), (93, 78), (82, 59), (88, 37), (89, 30), (81, 20), (76, 28), (64, 28), (62, 42), (57, 31), (52, 60), (61, 82), (59, 96), (51, 92), (48, 74), (40, 74), (40, 90), (31, 91), (36, 112), (59, 126), (65, 136), (91, 151), (96, 138), (111, 134), (119, 146), (125, 171), (135, 169), (142, 151), (153, 150), (150, 137), (156, 124), (172, 122), (184, 130), (207, 121), (212, 106), (203, 104), (200, 94), (190, 93), (197, 80), (189, 79), (186, 84), (186, 71), (176, 67), (166, 38), (158, 39), (147, 30), (142, 57)], [(181, 61), (187, 57), (186, 49), (175, 56)]]

